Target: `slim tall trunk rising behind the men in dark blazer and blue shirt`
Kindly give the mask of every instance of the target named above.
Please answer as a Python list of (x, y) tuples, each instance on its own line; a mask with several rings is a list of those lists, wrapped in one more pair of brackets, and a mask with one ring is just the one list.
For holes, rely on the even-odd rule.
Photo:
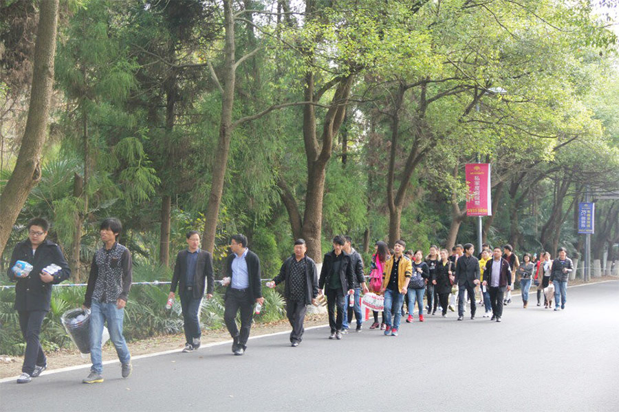
[(224, 69), (223, 90), (221, 90), (221, 120), (219, 123), (219, 139), (217, 140), (217, 156), (213, 164), (213, 180), (210, 185), (208, 204), (204, 218), (204, 236), (202, 249), (213, 252), (215, 248), (215, 232), (221, 196), (224, 194), (224, 178), (228, 168), (230, 154), (230, 138), (232, 137), (232, 106), (235, 103), (235, 19), (232, 0), (224, 0)]

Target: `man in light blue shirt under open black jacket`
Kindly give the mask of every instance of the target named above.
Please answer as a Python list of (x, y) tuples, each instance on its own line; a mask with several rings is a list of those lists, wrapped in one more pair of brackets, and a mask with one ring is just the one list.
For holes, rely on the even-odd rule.
[[(264, 298), (260, 283), (260, 260), (256, 253), (247, 248), (247, 238), (241, 234), (232, 236), (230, 250), (232, 253), (224, 262), (224, 273), (230, 277), (224, 297), (226, 301), (224, 321), (233, 339), (232, 352), (240, 356), (247, 350), (254, 303), (262, 305)], [(240, 332), (235, 321), (239, 310), (241, 311)]]

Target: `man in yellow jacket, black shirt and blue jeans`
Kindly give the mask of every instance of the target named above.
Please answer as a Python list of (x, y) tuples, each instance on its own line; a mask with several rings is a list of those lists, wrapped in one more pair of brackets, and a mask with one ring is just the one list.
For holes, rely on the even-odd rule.
[[(413, 274), (411, 260), (403, 255), (406, 249), (404, 240), (398, 240), (393, 246), (393, 256), (384, 264), (382, 273), (381, 293), (384, 293), (384, 330), (385, 336), (398, 336), (400, 328), (400, 318), (402, 317), (402, 303), (406, 290), (409, 288), (409, 281)], [(391, 313), (393, 312), (393, 324), (391, 323)]]

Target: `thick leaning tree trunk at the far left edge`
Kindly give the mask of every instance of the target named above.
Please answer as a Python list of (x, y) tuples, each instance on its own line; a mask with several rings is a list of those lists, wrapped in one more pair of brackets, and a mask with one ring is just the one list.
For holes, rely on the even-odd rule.
[(54, 56), (58, 26), (58, 0), (41, 1), (39, 28), (34, 46), (34, 69), (28, 119), (15, 168), (0, 195), (0, 255), (6, 247), (12, 226), (32, 187), (41, 179), (41, 150), (47, 136)]

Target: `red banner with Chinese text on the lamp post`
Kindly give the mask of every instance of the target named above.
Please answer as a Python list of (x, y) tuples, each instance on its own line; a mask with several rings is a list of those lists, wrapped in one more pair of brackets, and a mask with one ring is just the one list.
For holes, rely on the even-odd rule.
[(466, 216), (492, 215), (490, 200), (490, 163), (466, 165)]

